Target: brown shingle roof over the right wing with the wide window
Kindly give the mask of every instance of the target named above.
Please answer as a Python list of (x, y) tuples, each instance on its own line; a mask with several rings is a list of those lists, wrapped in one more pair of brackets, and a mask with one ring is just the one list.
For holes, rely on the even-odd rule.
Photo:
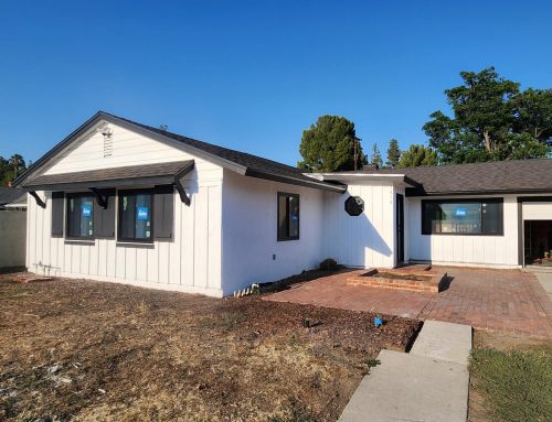
[(380, 169), (357, 173), (404, 175), (405, 180), (418, 184), (406, 190), (408, 196), (552, 192), (552, 160), (545, 159)]

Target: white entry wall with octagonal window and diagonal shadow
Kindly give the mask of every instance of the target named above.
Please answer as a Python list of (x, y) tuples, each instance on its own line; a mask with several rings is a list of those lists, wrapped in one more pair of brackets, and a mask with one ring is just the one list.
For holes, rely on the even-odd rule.
[[(349, 267), (395, 266), (395, 188), (393, 184), (349, 184), (344, 195), (326, 194), (323, 255)], [(364, 199), (364, 213), (344, 210), (349, 196)], [(405, 217), (406, 217), (405, 212)]]

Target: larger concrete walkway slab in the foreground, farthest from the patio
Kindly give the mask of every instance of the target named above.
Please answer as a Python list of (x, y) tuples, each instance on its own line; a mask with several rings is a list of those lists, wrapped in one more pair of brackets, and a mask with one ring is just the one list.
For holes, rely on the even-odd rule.
[(347, 404), (341, 422), (465, 422), (469, 374), (466, 365), (382, 350)]

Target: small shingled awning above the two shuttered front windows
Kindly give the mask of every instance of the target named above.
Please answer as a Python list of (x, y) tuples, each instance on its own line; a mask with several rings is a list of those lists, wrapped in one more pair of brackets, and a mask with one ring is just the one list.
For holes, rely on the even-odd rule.
[(73, 187), (136, 186), (137, 184), (174, 183), (193, 169), (193, 160), (88, 170), (84, 172), (44, 174), (21, 183), (26, 191), (64, 190)]

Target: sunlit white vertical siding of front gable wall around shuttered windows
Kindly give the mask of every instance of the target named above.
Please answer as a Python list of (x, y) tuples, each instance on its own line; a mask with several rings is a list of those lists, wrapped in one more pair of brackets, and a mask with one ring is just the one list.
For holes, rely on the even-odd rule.
[(104, 137), (93, 130), (63, 151), (43, 173), (194, 160), (195, 169), (183, 180), (191, 205), (182, 204), (178, 194), (174, 198), (173, 240), (136, 245), (116, 239), (86, 242), (52, 237), (51, 194), (39, 192), (46, 207), (29, 199), (29, 270), (221, 296), (222, 167), (187, 153), (177, 141), (166, 143), (115, 125), (110, 128), (109, 156), (104, 156)]

